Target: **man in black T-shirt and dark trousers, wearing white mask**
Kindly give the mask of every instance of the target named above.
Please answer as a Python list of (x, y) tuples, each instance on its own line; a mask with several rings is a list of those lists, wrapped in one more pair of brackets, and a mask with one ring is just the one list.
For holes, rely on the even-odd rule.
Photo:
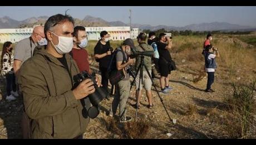
[(101, 39), (94, 48), (94, 56), (97, 62), (99, 62), (99, 69), (101, 71), (101, 83), (102, 86), (107, 90), (109, 84), (109, 77), (107, 76), (107, 66), (111, 59), (111, 46), (109, 42), (110, 35), (106, 31), (100, 33)]

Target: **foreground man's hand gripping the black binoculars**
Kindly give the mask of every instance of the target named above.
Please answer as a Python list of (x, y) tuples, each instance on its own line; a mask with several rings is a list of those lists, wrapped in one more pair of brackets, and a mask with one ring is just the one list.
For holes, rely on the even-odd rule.
[(83, 99), (84, 97), (87, 97), (88, 95), (95, 92), (95, 87), (93, 86), (93, 81), (91, 79), (86, 79), (82, 81), (76, 89), (73, 90), (73, 94), (76, 98), (76, 100)]

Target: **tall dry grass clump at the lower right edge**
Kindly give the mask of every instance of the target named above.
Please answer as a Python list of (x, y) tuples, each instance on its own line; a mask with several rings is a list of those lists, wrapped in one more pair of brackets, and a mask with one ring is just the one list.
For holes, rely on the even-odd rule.
[(233, 84), (233, 95), (224, 100), (230, 111), (225, 124), (233, 138), (250, 138), (253, 136), (251, 131), (255, 135), (255, 85), (256, 81), (249, 85)]

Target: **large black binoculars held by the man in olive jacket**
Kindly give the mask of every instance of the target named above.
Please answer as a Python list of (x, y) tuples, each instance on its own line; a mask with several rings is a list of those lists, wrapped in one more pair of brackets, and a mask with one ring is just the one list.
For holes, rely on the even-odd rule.
[(80, 82), (82, 82), (83, 80), (86, 80), (86, 79), (91, 79), (93, 81), (93, 85), (95, 87), (95, 92), (88, 95), (92, 106), (90, 108), (88, 108), (88, 110), (87, 110), (88, 116), (90, 118), (95, 118), (100, 113), (98, 105), (103, 99), (105, 99), (107, 97), (107, 92), (103, 87), (97, 86), (96, 80), (95, 80), (95, 74), (90, 75), (87, 73), (87, 71), (82, 71), (82, 73), (74, 76), (76, 86), (78, 86), (80, 84)]

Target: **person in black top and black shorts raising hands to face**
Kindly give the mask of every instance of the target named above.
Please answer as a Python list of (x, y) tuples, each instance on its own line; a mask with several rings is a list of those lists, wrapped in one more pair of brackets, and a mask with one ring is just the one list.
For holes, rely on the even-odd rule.
[(168, 49), (171, 49), (172, 43), (170, 37), (166, 37), (165, 33), (159, 34), (159, 42), (157, 50), (159, 52), (159, 71), (161, 92), (168, 93), (172, 88), (169, 86), (169, 77), (171, 73), (168, 67), (168, 62), (171, 60), (171, 55)]

